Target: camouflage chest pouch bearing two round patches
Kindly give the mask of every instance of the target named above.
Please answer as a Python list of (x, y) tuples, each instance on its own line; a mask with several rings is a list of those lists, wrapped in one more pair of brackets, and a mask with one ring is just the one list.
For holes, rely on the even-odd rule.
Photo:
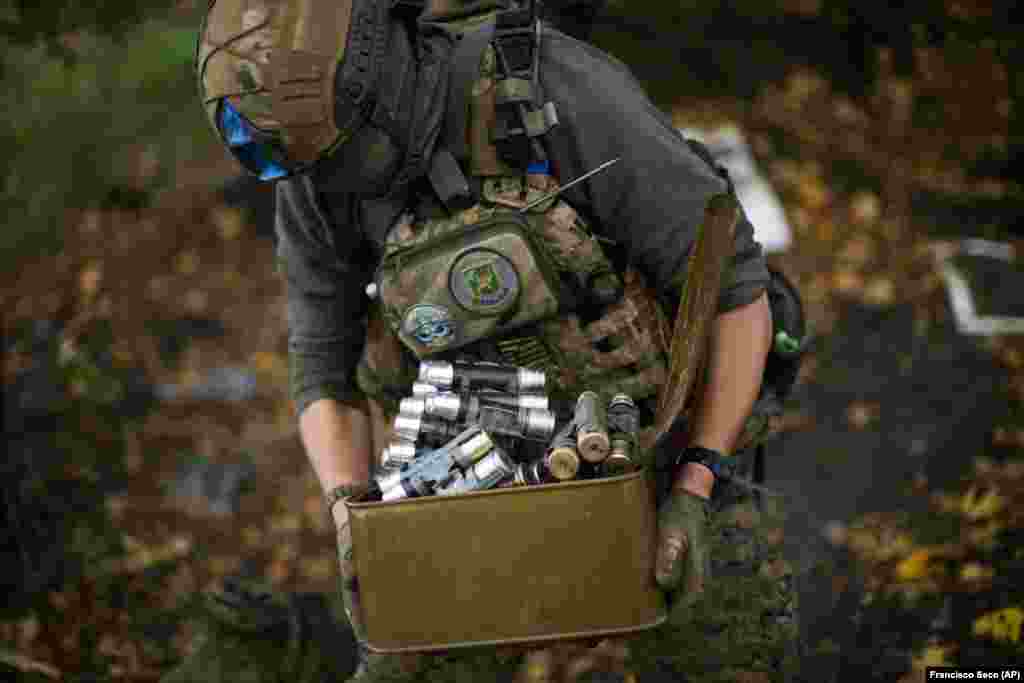
[(392, 251), (375, 280), (391, 328), (419, 358), (550, 317), (564, 299), (528, 221), (512, 212)]

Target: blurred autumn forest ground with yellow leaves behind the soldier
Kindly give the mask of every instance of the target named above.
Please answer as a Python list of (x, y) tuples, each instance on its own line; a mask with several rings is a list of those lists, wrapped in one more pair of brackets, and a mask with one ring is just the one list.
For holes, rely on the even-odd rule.
[[(272, 198), (197, 101), (205, 6), (0, 2), (4, 680), (157, 680), (224, 577), (334, 591), (287, 397)], [(1022, 18), (609, 0), (594, 22), (679, 126), (742, 128), (794, 226), (772, 260), (820, 343), (774, 480), (806, 501), (795, 538), (824, 548), (802, 567), (814, 680), (1024, 660), (1024, 344), (957, 335), (936, 265), (965, 237), (1020, 252)], [(856, 506), (817, 507), (858, 482)]]

